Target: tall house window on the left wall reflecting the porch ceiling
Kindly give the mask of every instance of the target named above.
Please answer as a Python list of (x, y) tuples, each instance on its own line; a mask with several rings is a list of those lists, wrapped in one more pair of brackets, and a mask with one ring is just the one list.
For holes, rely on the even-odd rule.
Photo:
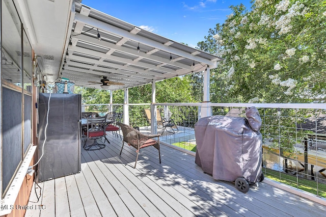
[[(32, 141), (32, 47), (12, 1), (1, 2), (1, 195)], [(22, 70), (23, 69), (23, 70)]]

